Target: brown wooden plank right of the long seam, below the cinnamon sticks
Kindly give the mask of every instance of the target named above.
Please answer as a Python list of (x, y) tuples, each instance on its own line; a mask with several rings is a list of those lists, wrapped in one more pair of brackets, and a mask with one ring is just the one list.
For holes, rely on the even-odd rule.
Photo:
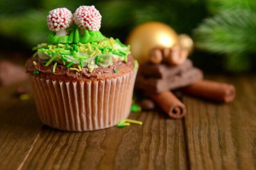
[(210, 76), (236, 86), (229, 104), (185, 97), (191, 170), (256, 169), (256, 76)]

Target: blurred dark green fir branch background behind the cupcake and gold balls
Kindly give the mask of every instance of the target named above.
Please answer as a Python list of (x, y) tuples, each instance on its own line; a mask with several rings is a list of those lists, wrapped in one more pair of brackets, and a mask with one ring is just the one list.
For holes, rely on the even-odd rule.
[(46, 42), (52, 9), (94, 5), (103, 16), (101, 32), (125, 41), (146, 21), (164, 22), (195, 42), (191, 59), (204, 71), (253, 72), (256, 65), (256, 0), (1, 0), (1, 52), (30, 57)]

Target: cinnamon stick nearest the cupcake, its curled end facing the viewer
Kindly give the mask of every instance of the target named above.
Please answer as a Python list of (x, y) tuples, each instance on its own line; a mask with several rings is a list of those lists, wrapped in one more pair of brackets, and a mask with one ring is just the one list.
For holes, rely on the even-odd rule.
[(152, 98), (171, 118), (179, 119), (186, 115), (185, 105), (177, 99), (170, 91), (165, 91), (160, 94), (148, 93)]

